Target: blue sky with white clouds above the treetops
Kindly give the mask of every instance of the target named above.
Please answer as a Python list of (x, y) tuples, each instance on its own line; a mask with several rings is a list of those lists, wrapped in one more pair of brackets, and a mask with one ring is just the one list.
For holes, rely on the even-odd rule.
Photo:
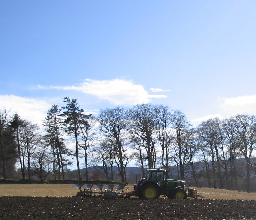
[(0, 108), (39, 125), (52, 105), (86, 113), (164, 104), (196, 127), (255, 115), (255, 0), (2, 0)]

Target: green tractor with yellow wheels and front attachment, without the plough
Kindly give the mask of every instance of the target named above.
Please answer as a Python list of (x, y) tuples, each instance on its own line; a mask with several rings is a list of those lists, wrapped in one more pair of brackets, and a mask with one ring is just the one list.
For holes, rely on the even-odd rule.
[(183, 180), (167, 179), (167, 174), (164, 169), (148, 169), (146, 178), (134, 185), (134, 195), (145, 199), (157, 199), (160, 195), (173, 199), (198, 198), (195, 189), (188, 188), (187, 193)]

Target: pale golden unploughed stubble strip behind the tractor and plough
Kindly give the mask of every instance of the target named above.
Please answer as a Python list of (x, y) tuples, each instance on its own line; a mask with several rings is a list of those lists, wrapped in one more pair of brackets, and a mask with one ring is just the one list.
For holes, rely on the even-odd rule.
[[(73, 184), (0, 184), (0, 196), (75, 196), (78, 189)], [(129, 192), (133, 185), (129, 186)], [(224, 189), (195, 188), (204, 199), (256, 200), (256, 193), (246, 193)]]

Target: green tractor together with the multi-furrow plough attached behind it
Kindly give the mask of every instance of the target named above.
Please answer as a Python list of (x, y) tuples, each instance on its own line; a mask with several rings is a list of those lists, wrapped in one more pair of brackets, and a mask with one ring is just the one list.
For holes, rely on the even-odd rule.
[(79, 189), (77, 196), (95, 196), (97, 194), (108, 199), (130, 196), (157, 199), (160, 195), (172, 199), (204, 198), (204, 195), (197, 195), (196, 189), (185, 189), (183, 180), (167, 179), (167, 176), (168, 171), (164, 169), (148, 169), (146, 178), (138, 180), (137, 184), (133, 185), (131, 192), (128, 192), (129, 187), (124, 189), (127, 185), (113, 184), (76, 184), (73, 188)]

